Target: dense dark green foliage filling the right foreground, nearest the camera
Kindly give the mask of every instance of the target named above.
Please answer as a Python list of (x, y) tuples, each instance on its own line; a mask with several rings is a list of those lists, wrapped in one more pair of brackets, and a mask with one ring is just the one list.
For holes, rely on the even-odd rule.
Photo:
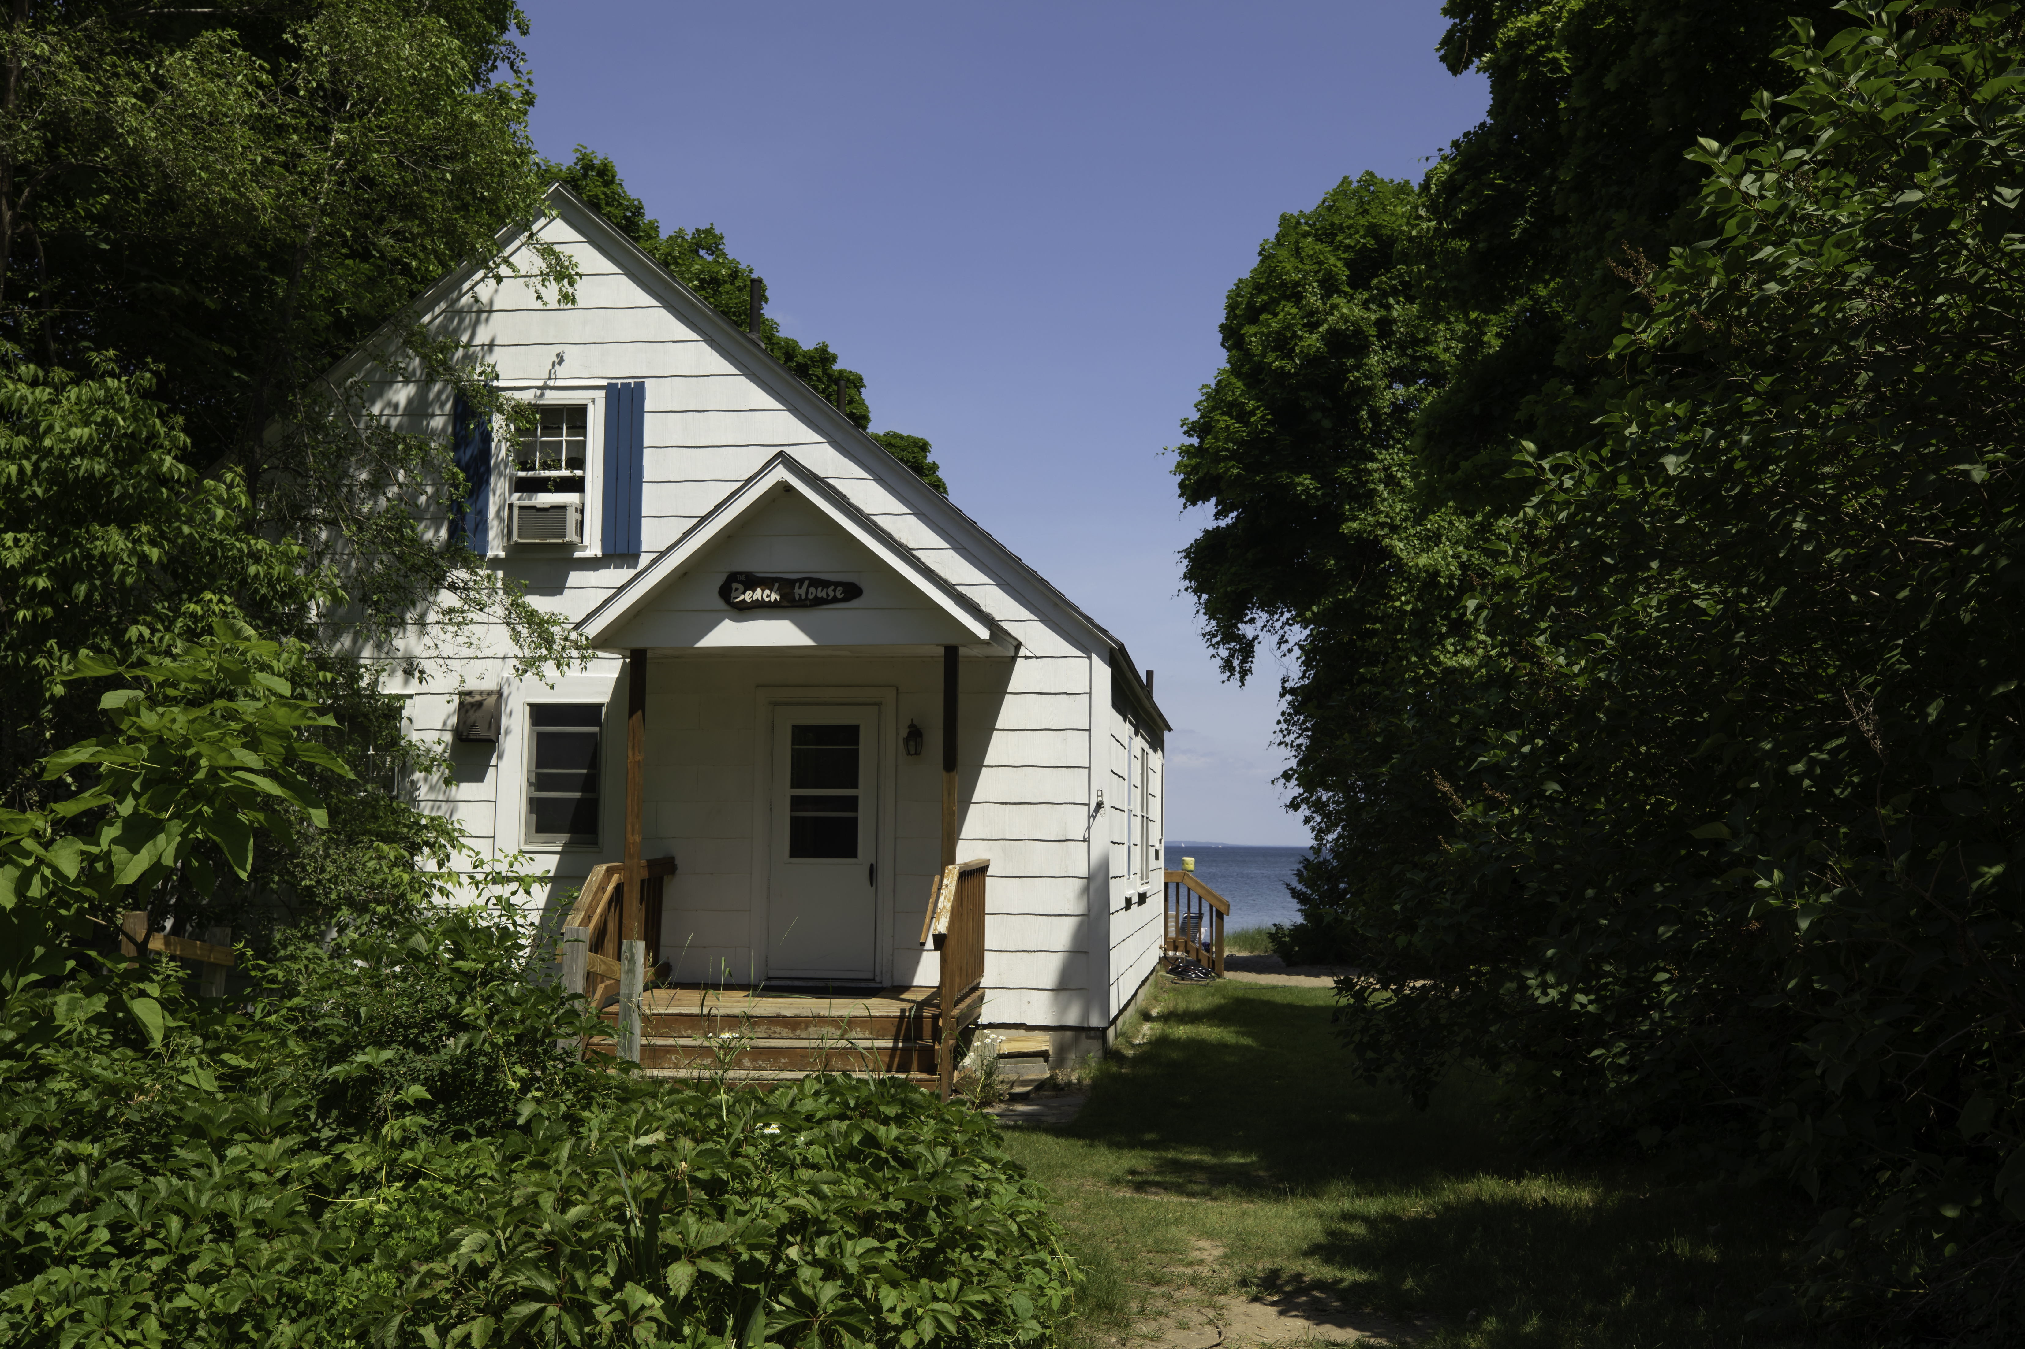
[[(1365, 971), (1343, 985), (1355, 1072), (1426, 1092), (1486, 1060), (1543, 1145), (1786, 1177), (1822, 1222), (1780, 1296), (1885, 1305), (1877, 1335), (2009, 1343), (2025, 24), (1901, 0), (1792, 34), (1735, 127), (1679, 146), (1685, 241), (1592, 257), (1620, 316), (1586, 374), (1541, 366), (1509, 439), (1470, 451), (1444, 421), (1488, 378), (1466, 354), (1434, 376), (1401, 485), (1316, 506), (1341, 574), (1363, 520), (1381, 550), (1363, 589), (1324, 580), (1282, 615), (1326, 843), (1284, 940)], [(1420, 190), (1422, 311), (1454, 313), (1468, 275), (1442, 204), (1456, 160)], [(1343, 305), (1397, 313), (1383, 277)], [(1237, 352), (1231, 372), (1270, 386)], [(1349, 423), (1369, 396), (1324, 402)], [(1233, 423), (1245, 455), (1270, 443), (1266, 413)], [(1294, 441), (1260, 467), (1383, 463), (1399, 433)], [(1219, 445), (1199, 443), (1187, 471)], [(1444, 520), (1446, 556), (1426, 546)], [(1258, 595), (1288, 574), (1239, 550), (1262, 556)], [(1205, 589), (1213, 631), (1260, 631), (1243, 584)]]

